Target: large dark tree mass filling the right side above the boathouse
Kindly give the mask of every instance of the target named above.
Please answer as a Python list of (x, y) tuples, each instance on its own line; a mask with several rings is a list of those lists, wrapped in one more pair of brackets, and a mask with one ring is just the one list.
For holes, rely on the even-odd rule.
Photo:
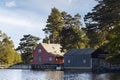
[(96, 1), (98, 5), (85, 15), (87, 35), (94, 45), (105, 46), (105, 50), (110, 53), (108, 61), (120, 64), (120, 0)]

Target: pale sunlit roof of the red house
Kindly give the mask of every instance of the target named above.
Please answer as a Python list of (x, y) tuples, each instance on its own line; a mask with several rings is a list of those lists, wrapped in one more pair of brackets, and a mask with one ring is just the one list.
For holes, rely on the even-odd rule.
[(60, 44), (51, 44), (51, 43), (41, 43), (41, 45), (44, 47), (44, 49), (51, 54), (63, 56), (64, 53), (61, 52), (61, 46)]

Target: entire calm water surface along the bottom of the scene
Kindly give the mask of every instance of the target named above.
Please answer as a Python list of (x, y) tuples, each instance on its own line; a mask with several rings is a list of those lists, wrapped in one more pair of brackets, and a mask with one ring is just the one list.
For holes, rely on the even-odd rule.
[(120, 80), (120, 73), (31, 71), (1, 69), (0, 80)]

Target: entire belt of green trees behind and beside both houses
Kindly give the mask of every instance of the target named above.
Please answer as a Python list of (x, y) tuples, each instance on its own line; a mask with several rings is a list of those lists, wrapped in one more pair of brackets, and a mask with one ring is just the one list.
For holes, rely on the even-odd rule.
[[(120, 0), (95, 1), (98, 4), (84, 16), (85, 26), (80, 22), (80, 14), (73, 16), (52, 8), (43, 29), (47, 35), (43, 42), (58, 43), (63, 52), (73, 48), (103, 48), (109, 53), (108, 62), (120, 64)], [(0, 63), (30, 63), (39, 40), (31, 34), (23, 35), (18, 48), (14, 49), (12, 40), (0, 32)]]

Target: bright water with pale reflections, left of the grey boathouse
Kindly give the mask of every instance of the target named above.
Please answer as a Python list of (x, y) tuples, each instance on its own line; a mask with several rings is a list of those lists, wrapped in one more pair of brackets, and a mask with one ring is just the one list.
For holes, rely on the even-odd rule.
[(0, 80), (63, 80), (63, 71), (0, 70)]

